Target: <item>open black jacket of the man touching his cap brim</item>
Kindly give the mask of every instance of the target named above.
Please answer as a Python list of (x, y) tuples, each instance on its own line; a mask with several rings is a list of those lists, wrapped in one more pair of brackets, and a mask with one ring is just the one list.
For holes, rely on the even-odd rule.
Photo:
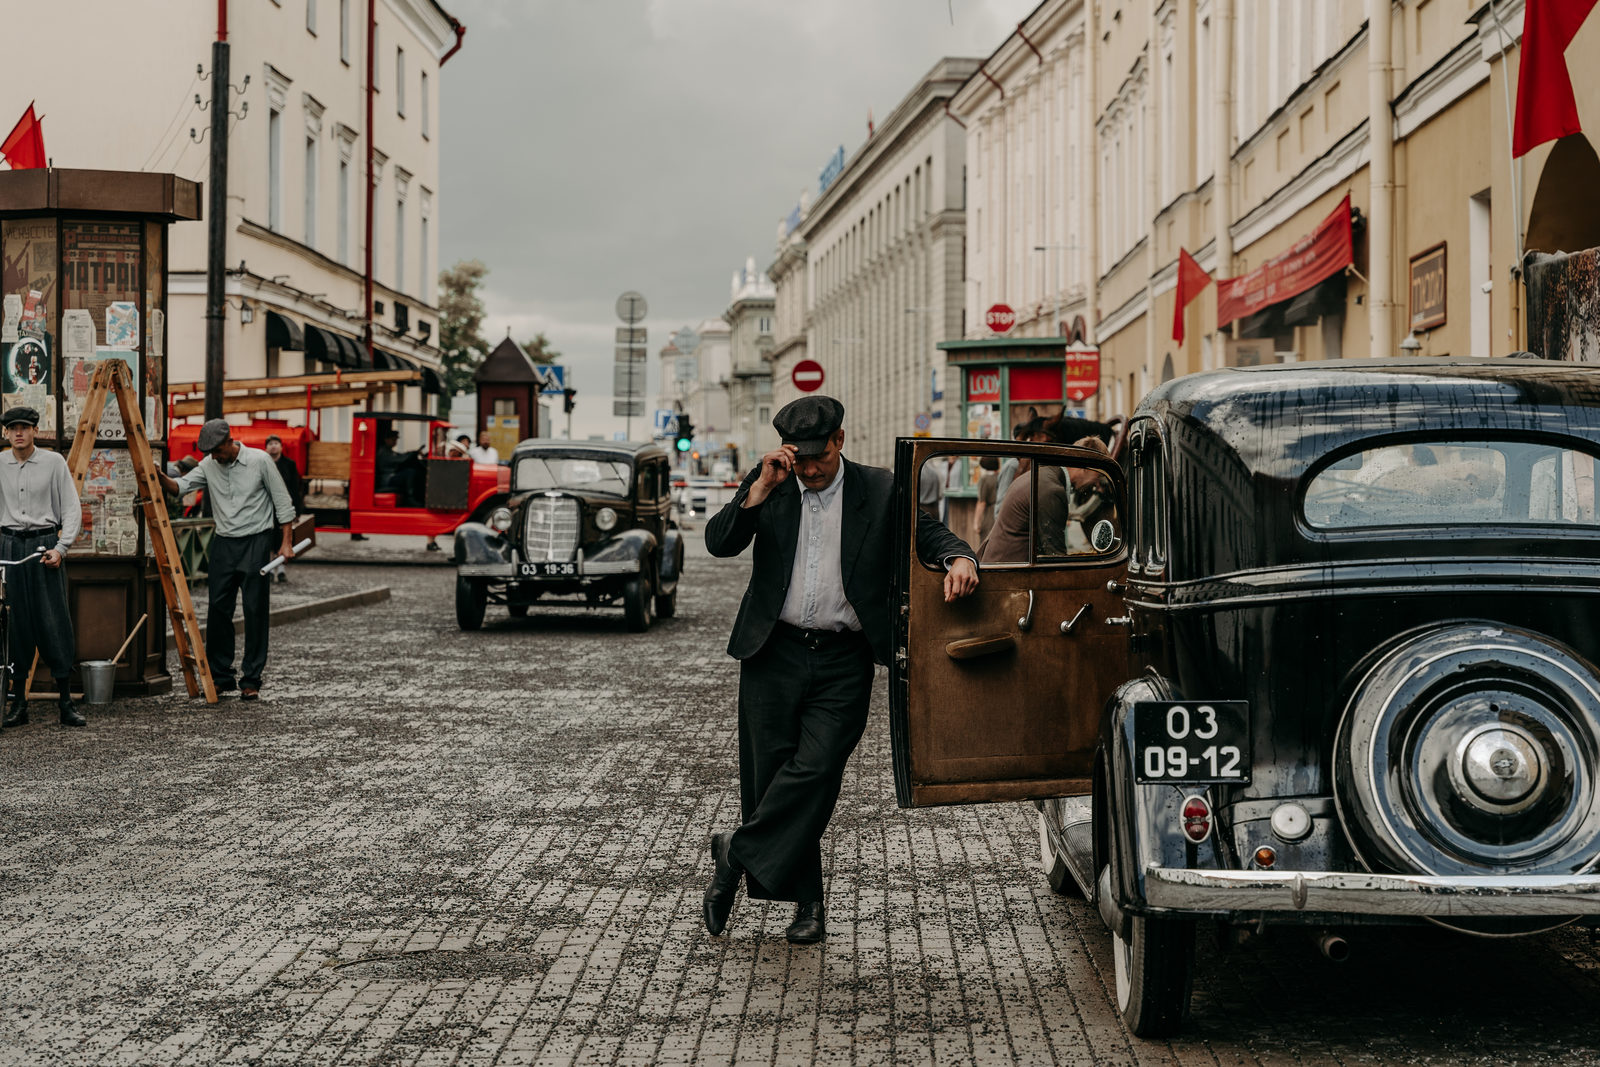
[[(838, 558), (843, 568), (845, 598), (861, 619), (861, 629), (880, 664), (890, 662), (894, 643), (890, 577), (894, 560), (894, 475), (882, 467), (845, 462), (845, 515), (840, 528)], [(739, 603), (728, 654), (749, 659), (771, 637), (795, 565), (800, 541), (800, 482), (790, 475), (757, 507), (744, 507), (762, 469), (744, 477), (733, 499), (706, 523), (706, 550), (712, 555), (739, 555), (755, 541), (755, 568), (750, 587)], [(934, 563), (952, 555), (976, 558), (965, 541), (944, 523), (917, 517), (917, 555)]]

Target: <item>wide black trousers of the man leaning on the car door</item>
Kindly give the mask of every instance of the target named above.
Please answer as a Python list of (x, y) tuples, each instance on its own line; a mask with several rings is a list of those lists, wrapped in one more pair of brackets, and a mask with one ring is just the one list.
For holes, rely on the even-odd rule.
[(822, 899), (822, 832), (867, 726), (872, 648), (778, 632), (739, 669), (739, 800), (733, 857), (758, 901)]

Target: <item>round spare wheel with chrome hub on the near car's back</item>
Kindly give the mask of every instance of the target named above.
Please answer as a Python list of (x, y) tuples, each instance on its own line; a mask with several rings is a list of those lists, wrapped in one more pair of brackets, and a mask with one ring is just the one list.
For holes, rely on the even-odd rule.
[(1371, 661), (1334, 798), (1371, 870), (1570, 875), (1600, 856), (1600, 673), (1566, 645), (1461, 621)]

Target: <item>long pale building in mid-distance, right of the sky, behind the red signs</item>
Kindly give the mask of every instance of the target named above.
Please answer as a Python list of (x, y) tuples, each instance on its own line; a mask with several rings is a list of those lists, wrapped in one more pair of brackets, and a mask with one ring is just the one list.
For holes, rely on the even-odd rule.
[(946, 104), (976, 67), (936, 62), (866, 144), (824, 173), (768, 269), (773, 408), (800, 395), (795, 363), (816, 360), (821, 392), (845, 405), (845, 448), (861, 462), (891, 466), (894, 438), (915, 434), (918, 416), (942, 432), (934, 346), (960, 336), (966, 240), (965, 131)]

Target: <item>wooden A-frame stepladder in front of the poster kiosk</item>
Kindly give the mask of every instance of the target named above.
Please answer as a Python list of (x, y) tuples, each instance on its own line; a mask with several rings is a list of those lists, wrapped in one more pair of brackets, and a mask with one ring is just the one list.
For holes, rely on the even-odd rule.
[(205, 640), (200, 637), (194, 600), (189, 598), (189, 576), (184, 574), (182, 558), (178, 555), (178, 541), (173, 537), (173, 525), (166, 515), (166, 493), (155, 477), (155, 456), (150, 453), (150, 437), (144, 430), (139, 395), (134, 392), (128, 365), (115, 358), (102, 360), (94, 368), (90, 395), (83, 398), (78, 432), (72, 438), (72, 451), (67, 453), (67, 467), (72, 470), (72, 483), (82, 499), (83, 478), (90, 470), (90, 454), (94, 451), (106, 398), (107, 394), (115, 394), (117, 406), (122, 408), (122, 426), (128, 434), (128, 459), (139, 478), (144, 528), (150, 534), (155, 569), (162, 576), (162, 592), (166, 597), (166, 613), (173, 621), (173, 643), (178, 646), (184, 685), (189, 686), (190, 697), (205, 693), (206, 704), (216, 704), (216, 685), (211, 681), (211, 667), (205, 659)]

